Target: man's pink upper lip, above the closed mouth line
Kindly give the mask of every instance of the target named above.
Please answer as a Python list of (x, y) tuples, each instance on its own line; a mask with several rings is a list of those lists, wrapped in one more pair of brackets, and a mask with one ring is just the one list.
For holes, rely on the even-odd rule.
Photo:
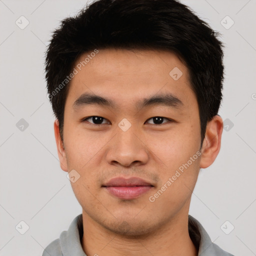
[(102, 186), (153, 186), (151, 183), (139, 177), (114, 177)]

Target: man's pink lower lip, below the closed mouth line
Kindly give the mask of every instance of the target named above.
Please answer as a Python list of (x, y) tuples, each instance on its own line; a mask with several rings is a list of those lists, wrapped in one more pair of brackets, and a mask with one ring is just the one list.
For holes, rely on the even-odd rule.
[(152, 186), (106, 186), (108, 192), (120, 199), (134, 199), (147, 192)]

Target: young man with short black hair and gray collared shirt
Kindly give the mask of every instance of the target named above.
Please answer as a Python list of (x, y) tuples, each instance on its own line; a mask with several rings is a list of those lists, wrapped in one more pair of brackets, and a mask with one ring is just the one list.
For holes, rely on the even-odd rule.
[(51, 255), (231, 255), (188, 215), (221, 142), (222, 45), (175, 0), (98, 0), (46, 52), (61, 169), (82, 214)]

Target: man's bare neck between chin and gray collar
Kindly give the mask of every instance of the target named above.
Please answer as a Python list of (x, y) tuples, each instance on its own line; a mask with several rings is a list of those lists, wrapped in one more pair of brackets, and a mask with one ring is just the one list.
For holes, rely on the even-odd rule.
[(196, 256), (198, 253), (188, 233), (188, 210), (152, 232), (136, 237), (116, 234), (95, 222), (84, 211), (82, 219), (81, 245), (87, 256)]

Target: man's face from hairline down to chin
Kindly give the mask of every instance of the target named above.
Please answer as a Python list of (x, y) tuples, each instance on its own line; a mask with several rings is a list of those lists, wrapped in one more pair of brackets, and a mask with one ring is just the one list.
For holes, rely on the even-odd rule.
[[(57, 122), (55, 136), (83, 214), (130, 235), (187, 214), (203, 154), (186, 66), (167, 51), (99, 49), (76, 69), (64, 108), (64, 149)], [(115, 177), (123, 179), (109, 183)]]

